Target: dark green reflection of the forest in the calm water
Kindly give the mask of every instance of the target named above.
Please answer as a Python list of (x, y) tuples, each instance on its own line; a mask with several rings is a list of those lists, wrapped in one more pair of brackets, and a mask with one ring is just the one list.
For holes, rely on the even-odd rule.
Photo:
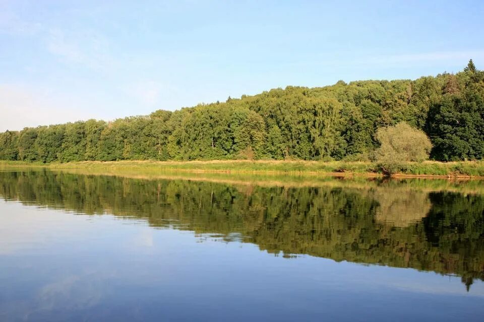
[(260, 187), (52, 172), (0, 173), (0, 195), (153, 226), (239, 233), (269, 253), (484, 279), (484, 197), (386, 188)]

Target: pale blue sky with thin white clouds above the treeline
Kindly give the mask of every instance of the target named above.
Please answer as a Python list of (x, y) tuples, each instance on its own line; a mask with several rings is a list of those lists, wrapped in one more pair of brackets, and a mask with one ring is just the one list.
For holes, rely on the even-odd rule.
[(484, 66), (484, 2), (0, 0), (0, 131)]

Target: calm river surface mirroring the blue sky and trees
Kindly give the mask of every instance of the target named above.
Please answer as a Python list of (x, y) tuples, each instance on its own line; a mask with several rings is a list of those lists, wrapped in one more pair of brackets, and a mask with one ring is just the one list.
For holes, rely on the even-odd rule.
[(1, 321), (482, 321), (484, 196), (0, 172)]

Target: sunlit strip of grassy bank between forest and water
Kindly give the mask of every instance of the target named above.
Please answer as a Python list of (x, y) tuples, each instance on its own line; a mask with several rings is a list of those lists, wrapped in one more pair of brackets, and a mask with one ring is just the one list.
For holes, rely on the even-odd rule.
[[(382, 175), (378, 165), (370, 162), (318, 162), (276, 160), (213, 160), (190, 162), (117, 161), (117, 162), (73, 162), (37, 164), (25, 162), (0, 162), (0, 169), (49, 168), (86, 169), (92, 171), (143, 172), (144, 174), (173, 172), (211, 172), (247, 174), (290, 174), (310, 176), (320, 174)], [(394, 176), (431, 176), (449, 178), (484, 178), (484, 161), (404, 163)]]

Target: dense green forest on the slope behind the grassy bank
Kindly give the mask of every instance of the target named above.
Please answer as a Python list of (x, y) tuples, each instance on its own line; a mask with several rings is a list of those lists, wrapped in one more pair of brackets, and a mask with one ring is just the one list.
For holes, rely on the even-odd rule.
[(226, 102), (114, 121), (78, 121), (0, 134), (0, 159), (372, 160), (379, 130), (406, 123), (426, 133), (430, 158), (484, 158), (484, 71), (414, 81), (343, 81), (286, 87)]

